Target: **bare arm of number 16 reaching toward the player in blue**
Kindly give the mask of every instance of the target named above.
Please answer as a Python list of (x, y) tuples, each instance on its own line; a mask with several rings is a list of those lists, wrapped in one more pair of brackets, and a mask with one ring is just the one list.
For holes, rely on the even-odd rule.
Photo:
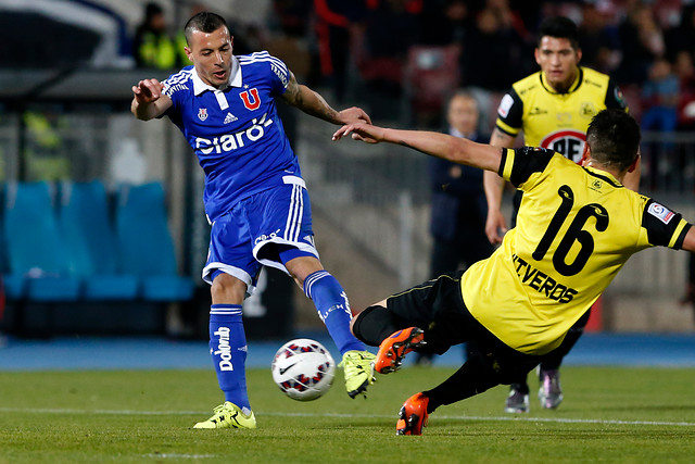
[(494, 172), (500, 168), (502, 150), (504, 150), (446, 134), (388, 129), (364, 123), (341, 127), (333, 134), (333, 140), (339, 140), (348, 135), (352, 135), (355, 140), (362, 140), (367, 143), (387, 141), (402, 145), (453, 163), (467, 164)]

